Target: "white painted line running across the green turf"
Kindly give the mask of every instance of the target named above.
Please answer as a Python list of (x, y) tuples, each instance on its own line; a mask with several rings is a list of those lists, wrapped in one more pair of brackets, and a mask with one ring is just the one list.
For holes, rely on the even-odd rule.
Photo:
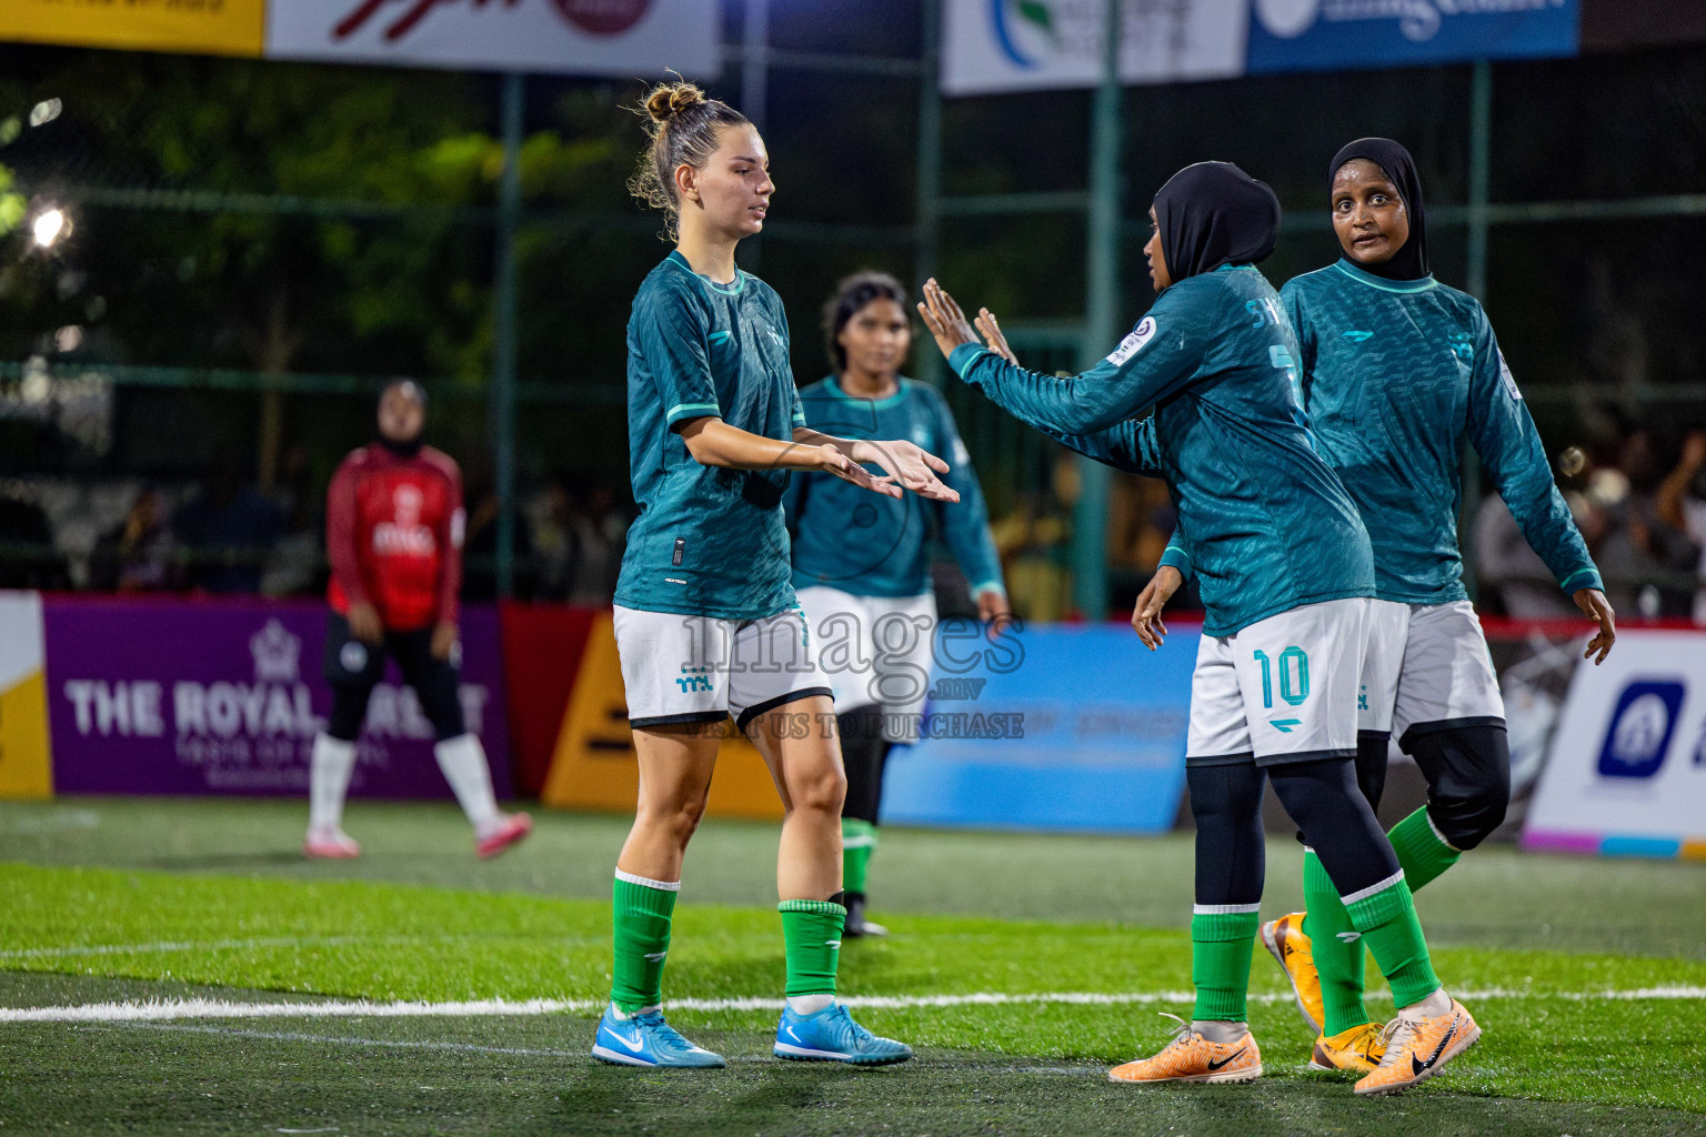
[[(1706, 987), (1636, 987), (1626, 990), (1534, 990), (1488, 989), (1454, 992), (1465, 1002), (1491, 999), (1517, 1001), (1684, 1001), (1706, 1002)], [(1370, 997), (1378, 997), (1370, 992)], [(1390, 997), (1390, 996), (1387, 996)], [(1189, 990), (1140, 992), (1085, 992), (1054, 990), (1030, 994), (976, 992), (964, 996), (848, 996), (850, 1007), (902, 1011), (913, 1007), (971, 1007), (1010, 1004), (1066, 1004), (1066, 1006), (1145, 1006), (1182, 1004), (1194, 999)], [(1290, 1002), (1290, 994), (1252, 994), (1250, 1002)], [(0, 1023), (164, 1023), (174, 1019), (350, 1019), (350, 1018), (483, 1018), (483, 1016), (539, 1016), (539, 1014), (590, 1014), (602, 1011), (604, 999), (478, 999), (466, 1002), (367, 1002), (367, 1001), (312, 1001), (312, 1002), (227, 1002), (223, 999), (159, 999), (126, 1002), (90, 1002), (58, 1007), (0, 1007)], [(781, 999), (670, 999), (670, 1011), (780, 1011)]]

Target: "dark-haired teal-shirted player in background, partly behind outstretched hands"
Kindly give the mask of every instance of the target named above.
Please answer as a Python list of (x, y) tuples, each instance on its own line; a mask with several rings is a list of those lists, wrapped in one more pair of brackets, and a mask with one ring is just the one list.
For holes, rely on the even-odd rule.
[(873, 501), (829, 474), (788, 484), (793, 588), (817, 636), (834, 689), (848, 798), (841, 808), (846, 936), (882, 936), (865, 919), (865, 883), (877, 851), (882, 776), (891, 747), (918, 740), (935, 653), (937, 597), (926, 542), (931, 522), (966, 571), (978, 617), (1008, 615), (1001, 563), (978, 476), (935, 387), (901, 375), (913, 346), (906, 290), (885, 273), (855, 273), (824, 307), (834, 375), (800, 392), (807, 421), (853, 438), (911, 438), (954, 455), (947, 484), (957, 506), (913, 498)]

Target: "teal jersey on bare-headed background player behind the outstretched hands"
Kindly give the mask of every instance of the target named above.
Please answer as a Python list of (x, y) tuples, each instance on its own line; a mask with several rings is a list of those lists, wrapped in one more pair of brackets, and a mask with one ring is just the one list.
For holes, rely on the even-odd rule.
[[(800, 392), (815, 430), (841, 438), (904, 438), (949, 462), (942, 477), (960, 499), (947, 506), (916, 494), (882, 498), (834, 474), (793, 474), (783, 506), (793, 537), (793, 586), (826, 585), (855, 597), (930, 592), (928, 537), (935, 527), (972, 595), (1001, 588), (1001, 563), (971, 455), (938, 390), (901, 378), (887, 399), (858, 399), (831, 375)], [(879, 470), (880, 472), (880, 470)]]

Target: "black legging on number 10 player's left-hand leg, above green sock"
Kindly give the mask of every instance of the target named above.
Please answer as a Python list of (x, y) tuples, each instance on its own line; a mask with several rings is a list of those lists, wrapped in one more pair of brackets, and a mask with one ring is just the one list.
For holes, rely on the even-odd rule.
[(1261, 903), (1268, 846), (1262, 837), (1264, 777), (1254, 762), (1192, 765), (1196, 818), (1196, 902)]

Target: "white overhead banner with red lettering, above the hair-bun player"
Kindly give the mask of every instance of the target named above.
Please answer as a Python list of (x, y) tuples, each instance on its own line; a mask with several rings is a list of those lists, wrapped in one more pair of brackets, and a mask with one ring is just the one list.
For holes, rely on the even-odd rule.
[(660, 78), (711, 77), (717, 0), (273, 0), (266, 56)]

